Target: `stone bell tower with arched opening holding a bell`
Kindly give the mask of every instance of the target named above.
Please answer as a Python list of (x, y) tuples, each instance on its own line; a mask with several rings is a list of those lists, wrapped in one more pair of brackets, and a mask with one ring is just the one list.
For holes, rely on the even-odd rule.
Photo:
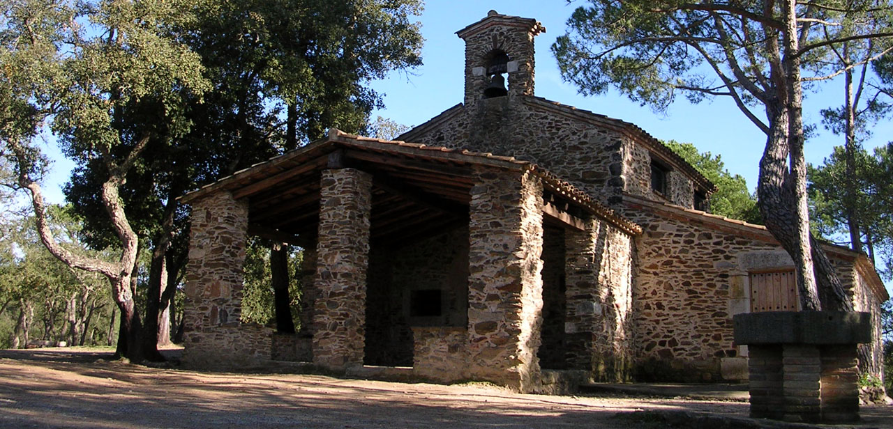
[(496, 11), (456, 31), (465, 41), (465, 106), (483, 98), (533, 95), (533, 37), (543, 32), (536, 20)]

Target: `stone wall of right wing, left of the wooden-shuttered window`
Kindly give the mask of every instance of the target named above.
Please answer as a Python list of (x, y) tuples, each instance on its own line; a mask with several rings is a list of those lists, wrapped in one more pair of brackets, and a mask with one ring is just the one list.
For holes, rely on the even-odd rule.
[(645, 210), (624, 214), (645, 230), (636, 239), (636, 378), (721, 379), (722, 359), (739, 354), (732, 343), (730, 272), (739, 253), (778, 247), (689, 219), (657, 217)]

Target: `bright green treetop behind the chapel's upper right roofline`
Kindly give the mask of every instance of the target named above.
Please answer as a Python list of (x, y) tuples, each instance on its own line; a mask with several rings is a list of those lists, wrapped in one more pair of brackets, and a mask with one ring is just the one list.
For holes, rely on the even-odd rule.
[(710, 196), (710, 212), (731, 219), (762, 223), (756, 200), (747, 191), (747, 181), (740, 175), (732, 175), (725, 168), (721, 155), (700, 153), (694, 144), (679, 143), (675, 140), (663, 144), (685, 161), (689, 161), (699, 173), (716, 185), (716, 192)]

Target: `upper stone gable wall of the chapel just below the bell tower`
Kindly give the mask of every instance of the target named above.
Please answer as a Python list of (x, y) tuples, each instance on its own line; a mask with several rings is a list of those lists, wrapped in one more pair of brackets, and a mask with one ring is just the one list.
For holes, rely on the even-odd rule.
[(509, 97), (480, 100), (473, 107), (456, 109), (449, 120), (404, 137), (415, 143), (535, 162), (606, 204), (620, 202), (626, 192), (693, 207), (691, 180), (672, 170), (667, 177), (667, 194), (656, 194), (651, 189), (650, 152), (618, 131), (550, 111), (540, 102)]

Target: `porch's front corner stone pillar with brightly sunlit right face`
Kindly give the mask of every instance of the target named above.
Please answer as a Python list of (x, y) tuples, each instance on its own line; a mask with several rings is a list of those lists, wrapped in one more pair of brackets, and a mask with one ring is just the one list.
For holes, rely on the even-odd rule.
[(469, 376), (536, 390), (542, 325), (542, 183), (475, 168), (469, 207)]

